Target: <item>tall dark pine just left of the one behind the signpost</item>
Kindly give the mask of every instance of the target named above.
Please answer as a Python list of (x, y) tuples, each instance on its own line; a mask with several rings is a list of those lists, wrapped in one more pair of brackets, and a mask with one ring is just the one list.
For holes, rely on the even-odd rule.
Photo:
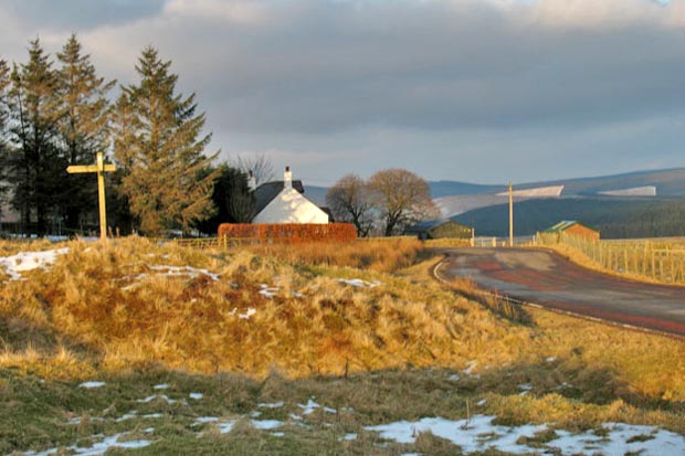
[(57, 77), (39, 39), (30, 42), (29, 62), (14, 65), (9, 91), (11, 118), (8, 178), (22, 229), (46, 233), (56, 212), (66, 163), (57, 147)]

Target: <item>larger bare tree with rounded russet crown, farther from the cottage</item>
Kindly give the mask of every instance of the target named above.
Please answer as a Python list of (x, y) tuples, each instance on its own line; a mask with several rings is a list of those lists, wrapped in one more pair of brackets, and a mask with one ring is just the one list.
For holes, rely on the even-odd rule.
[(384, 224), (384, 235), (438, 216), (428, 183), (404, 169), (387, 169), (369, 179), (371, 199)]

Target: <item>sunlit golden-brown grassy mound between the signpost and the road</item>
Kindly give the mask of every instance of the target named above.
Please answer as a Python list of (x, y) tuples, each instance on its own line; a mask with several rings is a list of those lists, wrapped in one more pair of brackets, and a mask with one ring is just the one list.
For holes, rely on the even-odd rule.
[[(407, 241), (365, 243), (357, 254), (310, 248), (289, 259), (384, 268), (390, 252), (405, 262), (418, 253)], [(460, 365), (474, 347), (510, 330), (435, 284), (417, 288), (380, 273), (307, 271), (251, 251), (203, 253), (138, 238), (70, 244), (49, 273), (3, 287), (0, 315), (11, 351), (29, 340), (50, 351), (59, 341), (106, 369), (158, 363), (257, 377)]]

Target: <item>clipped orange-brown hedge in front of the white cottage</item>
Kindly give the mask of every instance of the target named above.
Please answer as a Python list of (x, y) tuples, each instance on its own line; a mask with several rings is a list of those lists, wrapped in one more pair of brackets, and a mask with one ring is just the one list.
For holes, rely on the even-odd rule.
[(357, 238), (357, 230), (351, 223), (222, 223), (219, 237), (285, 243), (349, 242)]

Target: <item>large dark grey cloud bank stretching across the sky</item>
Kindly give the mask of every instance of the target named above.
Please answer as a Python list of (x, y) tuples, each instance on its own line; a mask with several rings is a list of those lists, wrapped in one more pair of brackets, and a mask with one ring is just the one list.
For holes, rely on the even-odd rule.
[(685, 35), (658, 24), (523, 29), (441, 2), (327, 6), (282, 4), (268, 26), (196, 24), (199, 40), (221, 43), (200, 70), (213, 75), (212, 112), (241, 130), (322, 132), (567, 128), (684, 106)]

